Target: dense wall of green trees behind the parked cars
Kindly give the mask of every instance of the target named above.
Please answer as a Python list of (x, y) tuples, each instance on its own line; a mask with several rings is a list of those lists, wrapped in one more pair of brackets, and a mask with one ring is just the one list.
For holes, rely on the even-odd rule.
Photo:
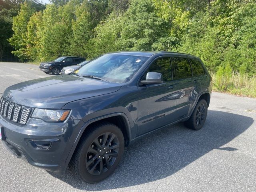
[(199, 56), (212, 72), (256, 74), (256, 0), (31, 2), (20, 3), (13, 19), (1, 16), (13, 31), (1, 32), (1, 40), (20, 60), (164, 50)]

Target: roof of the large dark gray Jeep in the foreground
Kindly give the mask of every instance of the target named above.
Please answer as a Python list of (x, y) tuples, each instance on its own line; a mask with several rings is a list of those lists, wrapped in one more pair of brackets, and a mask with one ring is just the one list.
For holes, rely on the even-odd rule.
[(176, 56), (191, 56), (191, 57), (196, 57), (191, 54), (186, 54), (186, 53), (179, 53), (179, 52), (168, 52), (168, 51), (120, 51), (120, 52), (112, 52), (114, 54), (124, 54), (124, 55), (137, 55), (137, 56), (152, 56), (154, 54), (170, 54), (170, 55), (176, 55)]

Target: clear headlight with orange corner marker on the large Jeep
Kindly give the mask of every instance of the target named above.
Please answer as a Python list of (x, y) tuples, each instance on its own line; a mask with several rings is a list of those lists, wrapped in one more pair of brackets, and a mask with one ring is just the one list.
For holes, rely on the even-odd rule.
[(32, 118), (42, 119), (46, 122), (60, 122), (64, 121), (69, 114), (70, 110), (48, 110), (35, 108)]

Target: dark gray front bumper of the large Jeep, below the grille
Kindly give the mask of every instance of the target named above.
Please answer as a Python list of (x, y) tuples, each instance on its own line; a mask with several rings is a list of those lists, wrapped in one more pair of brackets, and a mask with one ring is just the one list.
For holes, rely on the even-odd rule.
[[(79, 130), (84, 125), (82, 120), (64, 122), (44, 122), (30, 118), (25, 126), (14, 124), (0, 115), (2, 141), (16, 157), (33, 166), (64, 174), (68, 166), (67, 159)], [(48, 148), (38, 148), (35, 143), (50, 144)]]

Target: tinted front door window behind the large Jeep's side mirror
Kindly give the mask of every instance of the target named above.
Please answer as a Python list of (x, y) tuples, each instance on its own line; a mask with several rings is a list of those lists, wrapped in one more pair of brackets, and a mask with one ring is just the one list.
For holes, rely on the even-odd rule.
[[(148, 68), (148, 72), (157, 72), (163, 75), (164, 81), (172, 80), (172, 68), (170, 58), (159, 58), (154, 60), (154, 62)], [(146, 74), (144, 74), (142, 80), (146, 80)]]

